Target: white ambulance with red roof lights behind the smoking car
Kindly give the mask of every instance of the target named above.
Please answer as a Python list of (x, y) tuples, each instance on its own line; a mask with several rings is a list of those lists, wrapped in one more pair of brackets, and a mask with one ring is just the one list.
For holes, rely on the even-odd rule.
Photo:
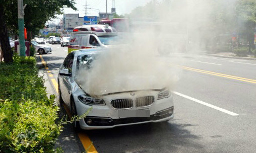
[(117, 31), (109, 25), (83, 25), (73, 29), (68, 53), (78, 49), (108, 47), (117, 39)]

